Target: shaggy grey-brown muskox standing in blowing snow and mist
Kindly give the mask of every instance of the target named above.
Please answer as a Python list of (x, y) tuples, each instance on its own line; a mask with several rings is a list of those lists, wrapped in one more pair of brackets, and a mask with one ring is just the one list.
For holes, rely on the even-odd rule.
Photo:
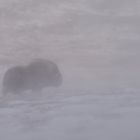
[(62, 75), (58, 66), (50, 60), (38, 59), (26, 66), (9, 68), (3, 77), (2, 90), (3, 93), (41, 91), (61, 84)]

